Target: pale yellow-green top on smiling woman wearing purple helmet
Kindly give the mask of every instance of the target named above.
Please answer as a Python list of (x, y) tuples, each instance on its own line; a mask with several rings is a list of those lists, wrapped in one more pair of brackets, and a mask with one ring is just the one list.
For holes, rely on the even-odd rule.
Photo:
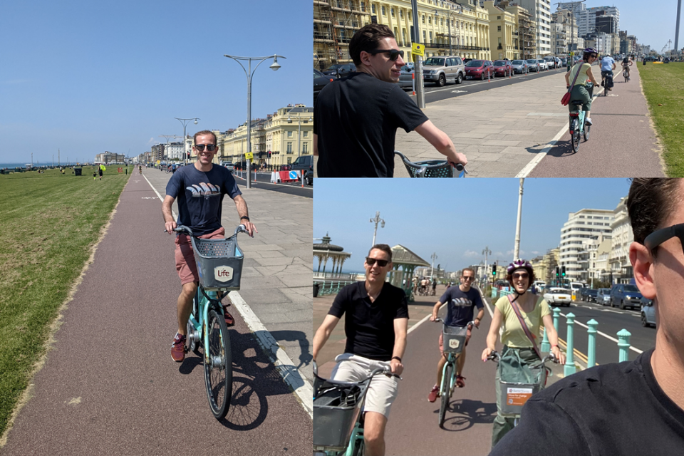
[[(494, 304), (494, 306), (499, 309), (504, 317), (504, 331), (501, 335), (501, 343), (514, 348), (532, 348), (532, 342), (529, 341), (529, 338), (525, 335), (524, 329), (520, 326), (520, 321), (515, 315), (513, 306), (508, 300), (508, 296), (499, 298), (499, 301), (497, 301), (497, 304)], [(520, 306), (518, 306), (518, 309), (520, 309)], [(539, 336), (542, 326), (541, 318), (546, 315), (551, 315), (551, 310), (545, 299), (539, 299), (537, 305), (534, 306), (534, 309), (527, 314), (524, 310), (520, 309), (520, 316), (522, 316), (525, 323), (527, 323), (527, 328), (529, 328), (529, 332), (534, 336), (534, 341), (537, 342), (537, 346), (541, 343), (541, 337)]]

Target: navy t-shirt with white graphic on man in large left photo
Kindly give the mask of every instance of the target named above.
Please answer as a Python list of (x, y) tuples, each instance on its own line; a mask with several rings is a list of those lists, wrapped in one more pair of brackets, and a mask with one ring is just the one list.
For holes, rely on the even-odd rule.
[(230, 171), (213, 165), (210, 171), (199, 171), (195, 165), (181, 167), (166, 185), (166, 194), (178, 201), (177, 224), (202, 236), (221, 227), (223, 195), (242, 195)]

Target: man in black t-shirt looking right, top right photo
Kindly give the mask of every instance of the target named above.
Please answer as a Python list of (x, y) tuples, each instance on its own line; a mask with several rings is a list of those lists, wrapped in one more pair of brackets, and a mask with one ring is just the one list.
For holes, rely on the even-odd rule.
[(356, 72), (328, 84), (314, 109), (318, 177), (393, 177), (397, 128), (415, 130), (452, 164), (465, 155), (400, 88), (404, 51), (388, 26), (368, 24), (351, 38)]

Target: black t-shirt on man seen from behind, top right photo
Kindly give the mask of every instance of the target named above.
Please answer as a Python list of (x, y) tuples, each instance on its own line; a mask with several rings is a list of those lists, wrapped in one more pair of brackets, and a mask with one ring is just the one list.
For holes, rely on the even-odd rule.
[(397, 84), (351, 73), (321, 90), (314, 109), (318, 177), (393, 177), (397, 128), (427, 121)]

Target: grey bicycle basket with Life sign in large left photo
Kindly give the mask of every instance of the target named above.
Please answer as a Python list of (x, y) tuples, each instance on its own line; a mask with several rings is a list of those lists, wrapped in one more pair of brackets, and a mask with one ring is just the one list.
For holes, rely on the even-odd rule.
[(239, 290), (244, 254), (237, 245), (237, 234), (226, 239), (190, 239), (204, 289)]

